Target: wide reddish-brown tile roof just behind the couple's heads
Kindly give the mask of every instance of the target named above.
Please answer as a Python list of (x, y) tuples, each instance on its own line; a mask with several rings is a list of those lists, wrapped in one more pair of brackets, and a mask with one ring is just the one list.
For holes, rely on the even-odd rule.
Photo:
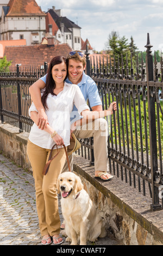
[(12, 60), (12, 66), (16, 64), (36, 65), (49, 63), (55, 56), (67, 57), (72, 48), (68, 44), (54, 46), (32, 45), (32, 46), (5, 46), (4, 56)]

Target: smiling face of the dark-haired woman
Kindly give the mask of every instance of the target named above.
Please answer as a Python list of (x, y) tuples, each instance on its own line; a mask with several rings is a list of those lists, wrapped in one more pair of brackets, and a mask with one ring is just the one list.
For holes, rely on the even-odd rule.
[(67, 75), (67, 66), (64, 62), (54, 65), (52, 68), (52, 77), (55, 83), (62, 83)]

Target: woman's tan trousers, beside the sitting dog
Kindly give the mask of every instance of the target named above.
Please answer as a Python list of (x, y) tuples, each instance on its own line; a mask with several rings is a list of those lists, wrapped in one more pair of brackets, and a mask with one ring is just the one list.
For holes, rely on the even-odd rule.
[[(42, 170), (49, 158), (50, 151), (50, 149), (43, 149), (28, 140), (27, 154), (35, 179), (36, 207), (42, 236), (47, 234), (53, 236), (60, 233), (57, 179), (64, 166), (66, 154), (62, 148), (44, 176)], [(56, 153), (57, 149), (54, 149), (52, 157)]]

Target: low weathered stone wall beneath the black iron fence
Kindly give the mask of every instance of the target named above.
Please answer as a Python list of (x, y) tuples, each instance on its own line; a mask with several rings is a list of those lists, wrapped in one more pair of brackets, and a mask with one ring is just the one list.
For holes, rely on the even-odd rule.
[[(0, 124), (0, 150), (18, 166), (31, 169), (26, 154), (28, 133)], [(104, 218), (108, 232), (124, 245), (163, 245), (163, 211), (151, 212), (151, 199), (114, 177), (108, 182), (95, 179), (89, 161), (74, 156), (74, 172)]]

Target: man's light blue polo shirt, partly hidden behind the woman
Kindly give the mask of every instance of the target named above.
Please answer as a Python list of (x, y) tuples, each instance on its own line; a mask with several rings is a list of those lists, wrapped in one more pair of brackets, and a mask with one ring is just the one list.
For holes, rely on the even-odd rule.
[[(46, 83), (46, 76), (47, 75), (40, 78), (45, 83)], [(68, 78), (66, 79), (66, 82), (72, 84), (72, 82)], [(85, 101), (87, 102), (87, 100), (89, 100), (90, 107), (102, 105), (96, 83), (92, 80), (90, 76), (87, 76), (84, 71), (83, 71), (82, 81), (78, 83), (78, 86), (83, 93)], [(71, 113), (71, 122), (72, 120), (74, 122), (79, 118), (81, 118), (81, 116), (79, 115), (76, 106), (74, 106), (73, 111)]]

